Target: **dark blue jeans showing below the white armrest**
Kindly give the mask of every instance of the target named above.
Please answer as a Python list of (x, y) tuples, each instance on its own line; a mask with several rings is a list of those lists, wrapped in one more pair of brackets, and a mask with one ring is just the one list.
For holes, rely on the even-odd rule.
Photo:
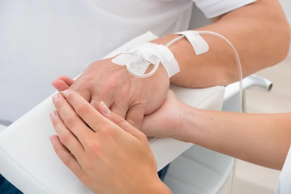
[[(169, 164), (158, 172), (159, 177), (163, 180), (167, 174)], [(13, 184), (8, 182), (2, 175), (0, 175), (0, 194), (23, 194)]]

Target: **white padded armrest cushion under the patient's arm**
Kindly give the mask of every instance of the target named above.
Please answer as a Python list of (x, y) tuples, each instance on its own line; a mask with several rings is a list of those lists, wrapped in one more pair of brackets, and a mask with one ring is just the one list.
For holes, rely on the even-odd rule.
[[(147, 32), (107, 57), (155, 38)], [(223, 86), (187, 89), (171, 85), (171, 89), (190, 106), (221, 110)], [(49, 136), (55, 134), (49, 119), (53, 110), (50, 96), (0, 132), (0, 174), (24, 194), (92, 194), (59, 160), (50, 144)], [(170, 138), (149, 139), (149, 143), (159, 170), (192, 146)]]

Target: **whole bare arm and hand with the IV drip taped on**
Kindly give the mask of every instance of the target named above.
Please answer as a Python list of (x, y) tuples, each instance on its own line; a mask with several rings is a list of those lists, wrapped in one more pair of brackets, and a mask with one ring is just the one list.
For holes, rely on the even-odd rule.
[[(278, 0), (258, 0), (213, 21), (213, 24), (196, 30), (225, 36), (240, 55), (244, 76), (275, 65), (288, 53), (290, 27)], [(153, 42), (166, 44), (176, 36), (168, 35)], [(95, 108), (103, 100), (114, 113), (139, 129), (144, 115), (153, 113), (162, 105), (170, 81), (185, 87), (209, 87), (238, 80), (229, 45), (216, 37), (204, 38), (210, 50), (198, 56), (186, 39), (170, 47), (181, 70), (171, 80), (162, 65), (150, 78), (140, 79), (129, 74), (125, 66), (105, 59), (89, 65), (70, 89)]]

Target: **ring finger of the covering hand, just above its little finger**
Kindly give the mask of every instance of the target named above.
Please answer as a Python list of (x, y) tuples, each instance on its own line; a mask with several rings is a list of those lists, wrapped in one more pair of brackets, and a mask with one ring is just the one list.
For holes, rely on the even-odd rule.
[[(84, 147), (81, 145), (76, 136), (65, 126), (65, 123), (57, 111), (49, 114), (52, 125), (57, 132), (62, 144), (74, 154), (77, 160), (84, 157)], [(80, 162), (80, 161), (79, 161)]]

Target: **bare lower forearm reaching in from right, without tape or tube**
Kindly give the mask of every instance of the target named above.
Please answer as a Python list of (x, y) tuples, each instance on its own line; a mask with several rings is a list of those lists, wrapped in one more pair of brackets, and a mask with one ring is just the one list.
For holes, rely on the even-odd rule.
[(188, 141), (261, 166), (280, 170), (291, 144), (291, 113), (246, 114), (187, 106)]

